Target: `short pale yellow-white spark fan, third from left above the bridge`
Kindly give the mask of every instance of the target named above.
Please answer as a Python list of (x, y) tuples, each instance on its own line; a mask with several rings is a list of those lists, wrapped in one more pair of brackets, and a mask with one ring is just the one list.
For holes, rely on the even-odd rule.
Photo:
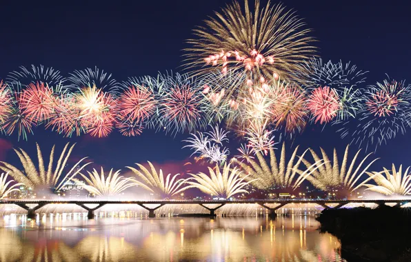
[[(88, 171), (87, 171), (88, 172)], [(119, 176), (120, 170), (113, 172), (111, 169), (108, 175), (104, 174), (103, 167), (101, 167), (101, 173), (95, 169), (92, 172), (88, 172), (88, 176), (81, 174), (88, 185), (83, 185), (83, 188), (96, 196), (115, 196), (135, 186), (131, 179), (126, 179)], [(77, 180), (76, 180), (77, 181)], [(77, 183), (80, 183), (77, 181)]]

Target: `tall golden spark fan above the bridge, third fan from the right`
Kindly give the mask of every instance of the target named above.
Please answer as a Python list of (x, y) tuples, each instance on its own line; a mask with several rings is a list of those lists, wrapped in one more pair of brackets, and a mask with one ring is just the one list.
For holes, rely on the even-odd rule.
[[(272, 190), (275, 188), (286, 188), (291, 191), (296, 190), (301, 183), (308, 177), (314, 170), (317, 170), (317, 168), (321, 167), (323, 165), (323, 161), (319, 160), (317, 163), (314, 163), (314, 165), (311, 165), (307, 170), (304, 172), (301, 172), (301, 174), (297, 175), (297, 169), (299, 168), (299, 165), (305, 155), (305, 152), (301, 154), (300, 157), (298, 157), (297, 163), (294, 164), (294, 159), (297, 156), (297, 148), (295, 148), (294, 152), (292, 153), (292, 156), (290, 157), (290, 160), (288, 161), (287, 165), (285, 166), (285, 143), (283, 143), (283, 147), (281, 149), (281, 156), (279, 161), (277, 161), (277, 157), (274, 152), (274, 148), (270, 147), (269, 152), (270, 152), (270, 165), (265, 161), (263, 154), (261, 152), (257, 152), (257, 159), (259, 159), (259, 163), (257, 161), (254, 161), (250, 157), (243, 156), (250, 165), (246, 163), (242, 163), (240, 161), (236, 161), (239, 163), (241, 168), (247, 172), (247, 174), (250, 176), (249, 179), (257, 179), (254, 180), (252, 183), (254, 186), (257, 188), (263, 189), (263, 190)], [(271, 166), (271, 167), (270, 167)]]

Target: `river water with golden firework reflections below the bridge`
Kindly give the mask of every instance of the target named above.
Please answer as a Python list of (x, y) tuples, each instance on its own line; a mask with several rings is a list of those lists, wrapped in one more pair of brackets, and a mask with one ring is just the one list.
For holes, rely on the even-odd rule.
[(313, 216), (98, 218), (8, 215), (0, 261), (345, 261)]

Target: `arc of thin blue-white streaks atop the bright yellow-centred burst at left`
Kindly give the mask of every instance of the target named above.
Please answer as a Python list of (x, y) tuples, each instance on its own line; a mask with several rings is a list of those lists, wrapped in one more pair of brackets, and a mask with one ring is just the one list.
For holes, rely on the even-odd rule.
[(97, 67), (94, 70), (91, 68), (75, 70), (70, 73), (68, 81), (72, 90), (81, 90), (82, 88), (95, 85), (100, 90), (110, 92), (111, 94), (119, 94), (121, 92), (121, 85), (115, 79), (112, 79), (111, 74), (104, 72), (104, 70), (99, 70)]

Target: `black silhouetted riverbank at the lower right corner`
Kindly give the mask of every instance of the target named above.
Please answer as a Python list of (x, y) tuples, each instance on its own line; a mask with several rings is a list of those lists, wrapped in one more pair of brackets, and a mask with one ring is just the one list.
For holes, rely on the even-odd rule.
[(411, 261), (411, 212), (381, 205), (376, 209), (323, 210), (320, 231), (341, 241), (347, 261)]

